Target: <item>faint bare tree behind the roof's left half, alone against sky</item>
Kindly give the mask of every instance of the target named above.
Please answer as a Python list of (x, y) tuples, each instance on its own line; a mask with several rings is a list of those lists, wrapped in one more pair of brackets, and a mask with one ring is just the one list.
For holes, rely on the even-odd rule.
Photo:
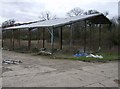
[(52, 15), (49, 11), (41, 12), (39, 16), (40, 20), (50, 20), (50, 19), (56, 19), (56, 15)]

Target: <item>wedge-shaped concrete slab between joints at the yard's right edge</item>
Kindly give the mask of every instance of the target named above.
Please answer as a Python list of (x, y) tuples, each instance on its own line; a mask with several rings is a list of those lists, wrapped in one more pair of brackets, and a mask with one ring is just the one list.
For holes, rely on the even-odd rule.
[(83, 71), (106, 77), (118, 76), (118, 64), (116, 62), (83, 67), (82, 69)]

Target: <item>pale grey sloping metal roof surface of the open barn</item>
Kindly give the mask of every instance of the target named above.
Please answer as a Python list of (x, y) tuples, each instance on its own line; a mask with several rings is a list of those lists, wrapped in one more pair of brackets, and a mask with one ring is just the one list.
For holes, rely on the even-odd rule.
[(99, 16), (99, 15), (102, 15), (102, 14), (81, 15), (81, 16), (75, 16), (75, 17), (69, 17), (69, 18), (51, 19), (51, 20), (32, 23), (32, 24), (28, 24), (28, 25), (8, 27), (8, 28), (5, 28), (5, 29), (20, 29), (20, 28), (32, 28), (32, 27), (52, 27), (52, 26), (57, 27), (57, 26), (65, 25), (65, 24), (74, 23), (76, 21), (89, 19), (91, 17), (96, 17), (96, 16)]

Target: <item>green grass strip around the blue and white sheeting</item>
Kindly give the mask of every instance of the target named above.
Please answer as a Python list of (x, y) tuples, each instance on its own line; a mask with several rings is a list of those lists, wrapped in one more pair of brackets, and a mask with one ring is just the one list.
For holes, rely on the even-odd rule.
[(73, 54), (55, 54), (51, 58), (54, 59), (66, 59), (66, 60), (79, 60), (84, 62), (108, 62), (108, 61), (116, 61), (118, 60), (118, 54), (117, 53), (98, 53), (97, 55), (102, 55), (103, 58), (92, 58), (92, 57), (74, 57)]

